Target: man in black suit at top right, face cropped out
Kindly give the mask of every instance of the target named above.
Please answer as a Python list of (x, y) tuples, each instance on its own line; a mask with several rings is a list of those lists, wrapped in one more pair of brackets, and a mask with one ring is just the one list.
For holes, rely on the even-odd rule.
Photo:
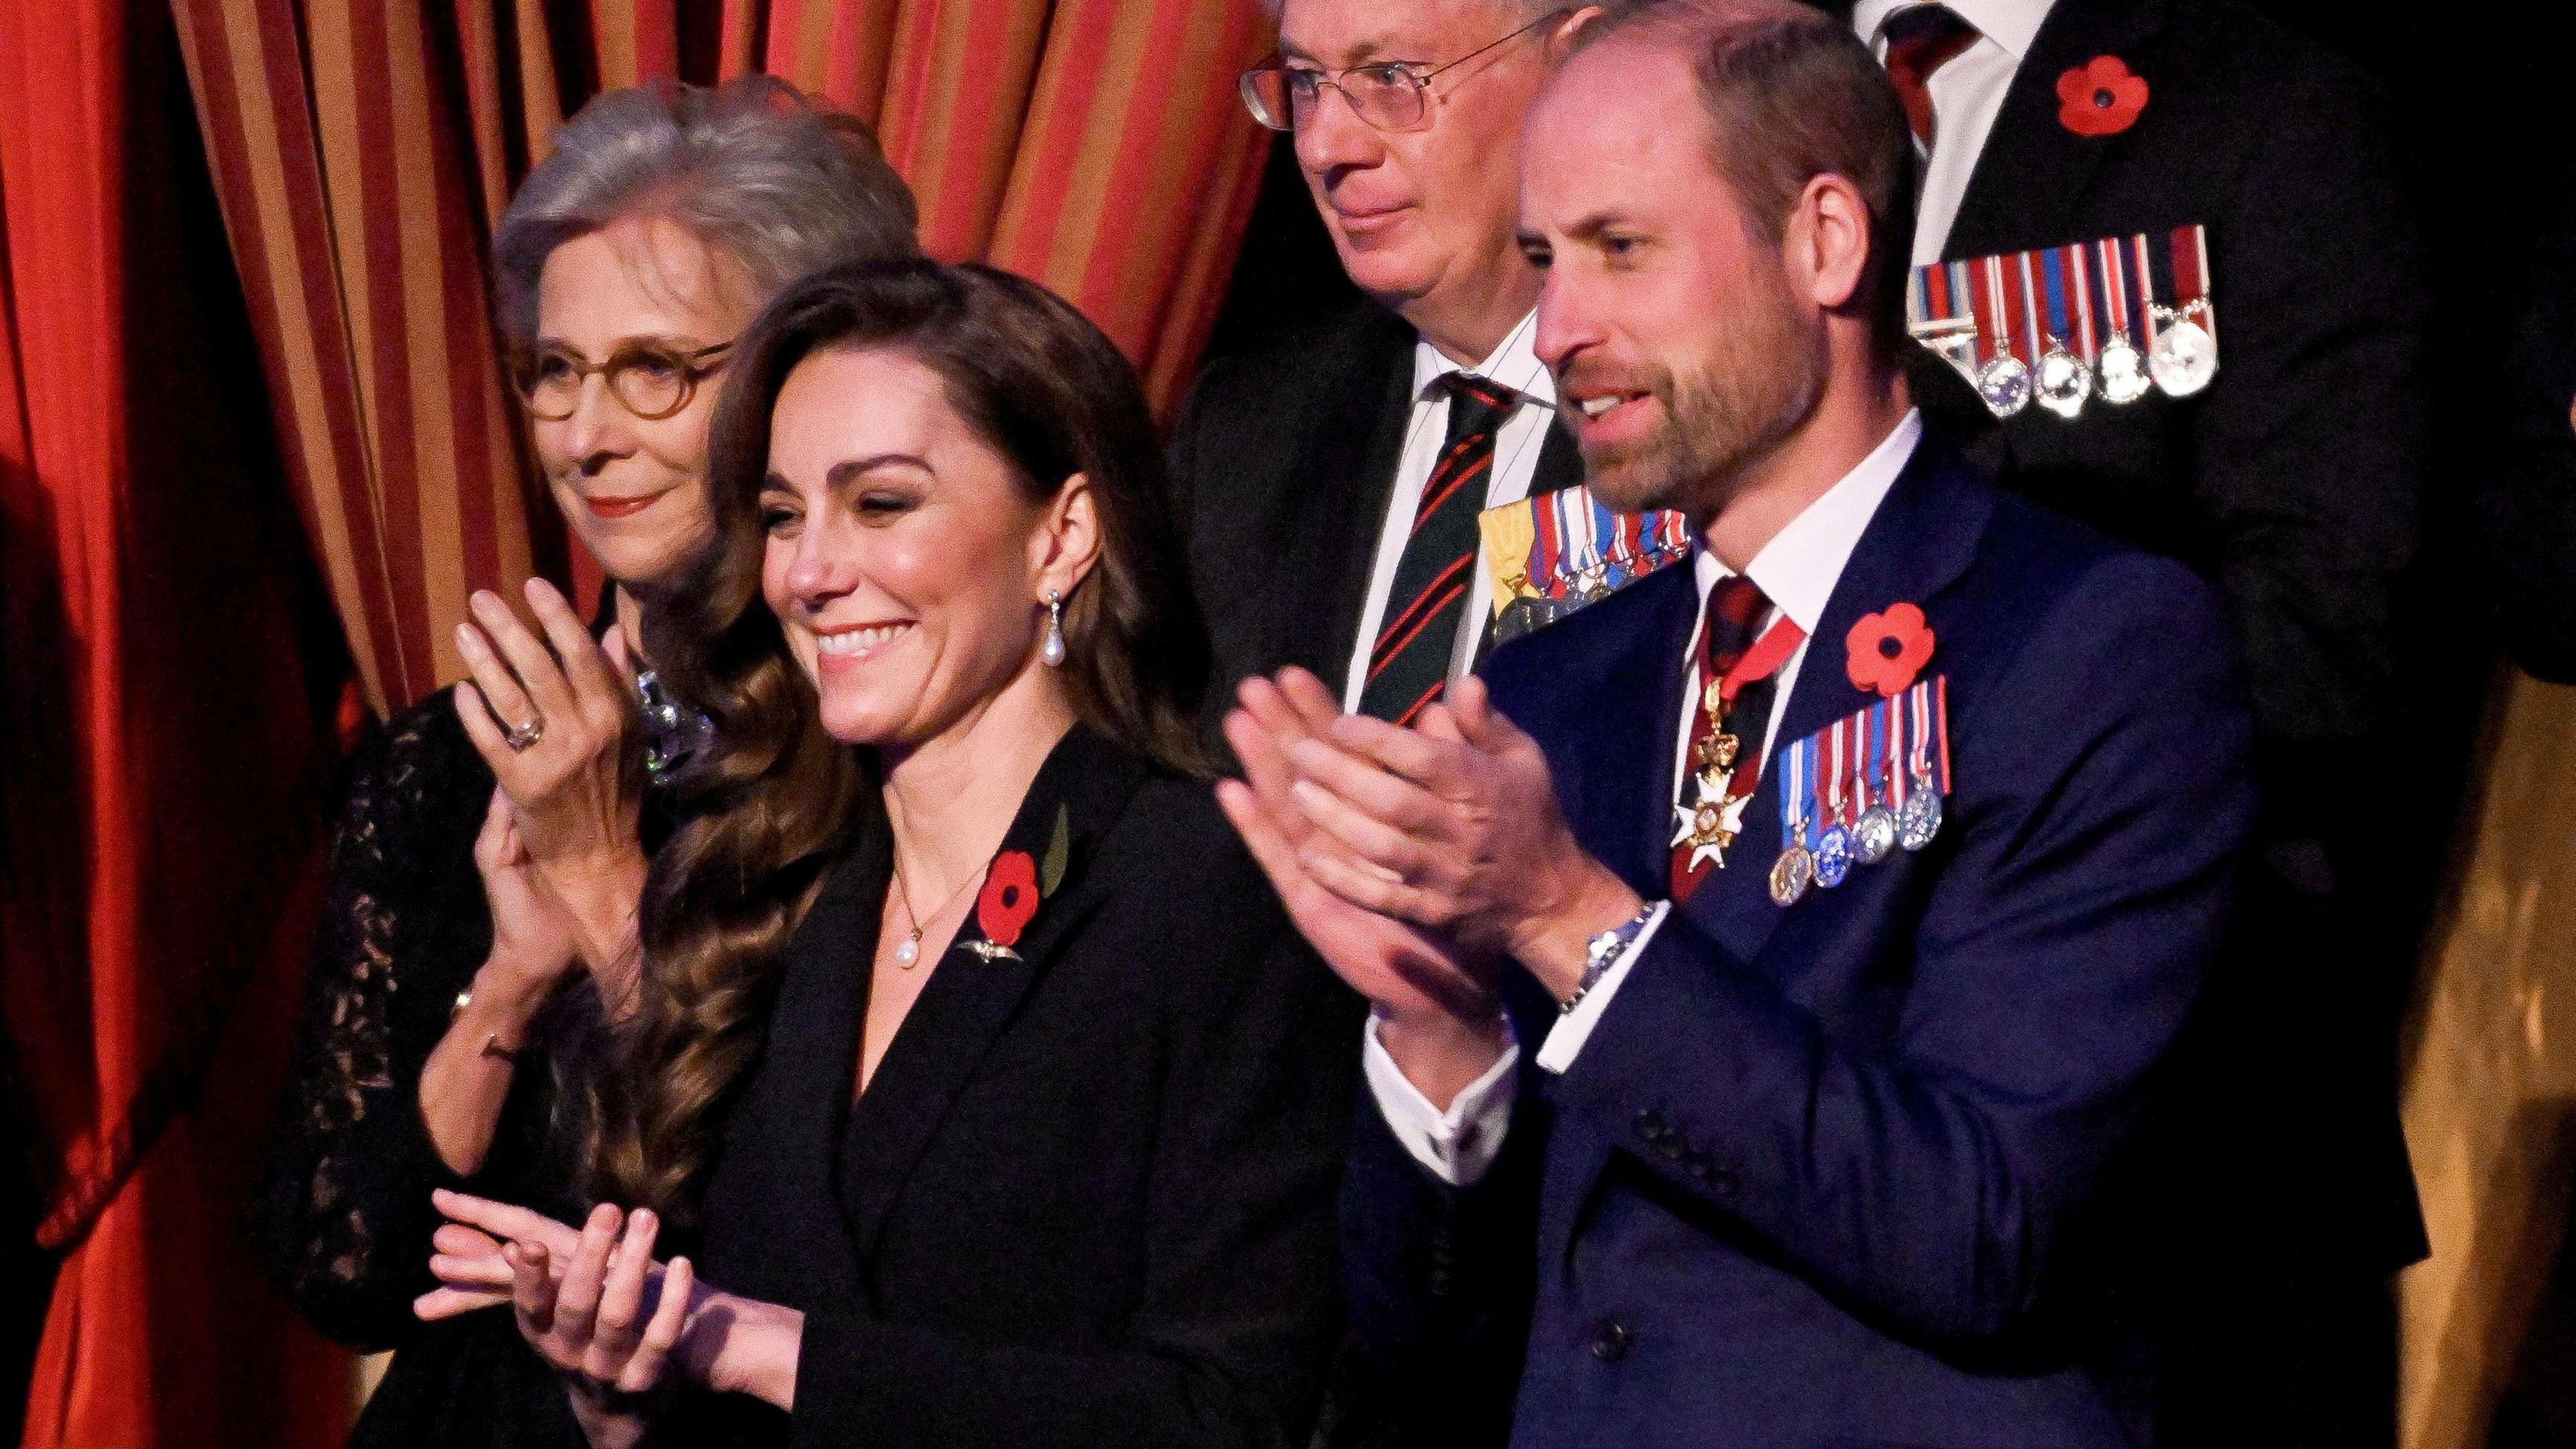
[(2241, 0), (1832, 8), (1909, 106), (1917, 263), (2208, 229), (2205, 392), (1996, 420), (1929, 353), (1914, 379), (2007, 487), (2182, 559), (2228, 603), (2262, 828), (2233, 1000), (2205, 1016), (2244, 1070), (2202, 1129), (2239, 1150), (2205, 1181), (2213, 1258), (2182, 1312), (2213, 1323), (2208, 1372), (2174, 1379), (2174, 1431), (2385, 1444), (2388, 1276), (2427, 1248), (2396, 1111), (2421, 923), (2398, 902), (2439, 871), (2439, 817), (2388, 820), (2372, 781), (2450, 766), (2421, 761), (2439, 730), (2398, 694), (2429, 302), (2383, 98)]

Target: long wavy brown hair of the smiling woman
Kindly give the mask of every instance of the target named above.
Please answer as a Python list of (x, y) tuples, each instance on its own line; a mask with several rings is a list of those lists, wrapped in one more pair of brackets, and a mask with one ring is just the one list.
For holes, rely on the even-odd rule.
[(683, 825), (644, 887), (644, 980), (595, 1093), (592, 1189), (693, 1222), (724, 1104), (760, 1047), (788, 936), (876, 786), (873, 755), (822, 730), (814, 686), (760, 593), (778, 389), (806, 356), (896, 348), (1028, 498), (1084, 474), (1100, 557), (1064, 603), (1077, 719), (1149, 761), (1206, 776), (1198, 696), (1208, 634), (1170, 521), (1170, 480), (1136, 371), (1066, 302), (981, 266), (881, 260), (781, 291), (734, 343), (708, 428), (716, 541), (654, 598), (644, 639), (662, 681), (716, 722), (680, 781)]

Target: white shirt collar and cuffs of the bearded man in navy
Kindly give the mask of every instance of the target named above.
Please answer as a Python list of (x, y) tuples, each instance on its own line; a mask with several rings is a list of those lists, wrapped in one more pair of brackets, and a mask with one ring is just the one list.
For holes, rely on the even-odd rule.
[[(1870, 518), (1878, 516), (1878, 505), (1886, 500), (1888, 487), (1896, 485), (1896, 474), (1906, 469), (1906, 459), (1914, 456), (1914, 446), (1924, 436), (1922, 413), (1906, 413), (1896, 431), (1891, 431), (1870, 456), (1860, 459), (1860, 467), (1842, 474), (1834, 487), (1824, 490), (1816, 503), (1808, 503), (1803, 513), (1788, 521), (1785, 529), (1772, 534), (1772, 541), (1762, 544), (1762, 552), (1744, 567), (1762, 596), (1772, 601), (1772, 611), (1762, 619), (1759, 629), (1770, 629), (1775, 619), (1788, 616), (1798, 621), (1798, 629), (1808, 634), (1788, 663), (1780, 665), (1777, 686), (1772, 694), (1772, 712), (1762, 727), (1762, 761), (1770, 768), (1772, 745), (1777, 745), (1780, 717), (1788, 712), (1790, 694), (1798, 688), (1798, 670), (1806, 665), (1806, 655), (1814, 647), (1816, 624), (1824, 619), (1824, 606), (1834, 598), (1834, 585), (1842, 583), (1842, 567), (1852, 559), (1852, 549), (1860, 544), (1860, 534), (1868, 531)], [(1718, 562), (1708, 549), (1692, 554), (1692, 570), (1700, 583), (1700, 619), (1708, 616), (1708, 593), (1718, 580), (1728, 578), (1731, 570)], [(1757, 632), (1759, 637), (1759, 632)], [(1832, 655), (1832, 639), (1826, 642), (1826, 657)], [(1672, 740), (1672, 792), (1667, 799), (1677, 799), (1682, 792), (1682, 763), (1690, 755), (1690, 724), (1692, 704), (1700, 696), (1700, 670), (1692, 660), (1680, 709), (1682, 717), (1674, 727)], [(1726, 869), (1770, 869), (1770, 861), (1728, 861)], [(1574, 1065), (1574, 1055), (1582, 1052), (1584, 1042), (1592, 1036), (1592, 1026), (1610, 1008), (1610, 998), (1618, 995), (1620, 982), (1628, 980), (1628, 969), (1636, 964), (1638, 954), (1654, 941), (1654, 933), (1664, 926), (1672, 902), (1654, 902), (1646, 928), (1638, 931), (1636, 941), (1602, 972), (1589, 993), (1574, 1006), (1574, 1011), (1556, 1018), (1548, 1029), (1548, 1039), (1538, 1047), (1538, 1067), (1546, 1073), (1564, 1073)], [(1368, 1091), (1378, 1098), (1378, 1111), (1394, 1129), (1396, 1142), (1414, 1155), (1417, 1163), (1430, 1168), (1448, 1183), (1466, 1186), (1484, 1176), (1494, 1165), (1494, 1155), (1502, 1150), (1502, 1134), (1512, 1127), (1512, 1078), (1520, 1065), (1520, 1047), (1507, 1047), (1502, 1060), (1494, 1062), (1473, 1085), (1458, 1093), (1458, 1101), (1448, 1111), (1432, 1106), (1422, 1091), (1404, 1078), (1396, 1060), (1378, 1044), (1378, 1021), (1370, 1018), (1368, 1039), (1360, 1052), (1360, 1062), (1368, 1073)]]

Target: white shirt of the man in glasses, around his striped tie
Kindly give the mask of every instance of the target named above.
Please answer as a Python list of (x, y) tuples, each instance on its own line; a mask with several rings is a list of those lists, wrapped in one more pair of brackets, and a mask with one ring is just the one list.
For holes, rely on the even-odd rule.
[[(1494, 356), (1476, 366), (1453, 364), (1427, 340), (1414, 340), (1414, 415), (1404, 423), (1404, 459), (1396, 464), (1396, 495), (1386, 500), (1386, 523), (1378, 526), (1378, 562), (1368, 572), (1368, 606), (1360, 608), (1360, 637), (1350, 645), (1350, 683), (1342, 686), (1342, 709), (1360, 709), (1360, 691), (1368, 688), (1368, 655), (1378, 645), (1378, 624), (1386, 621), (1386, 596), (1396, 590), (1396, 565), (1404, 562), (1404, 539), (1414, 531), (1414, 511), (1422, 508), (1422, 490), (1440, 467), (1440, 443), (1448, 441), (1448, 389), (1432, 389), (1453, 371), (1476, 376), (1520, 392), (1520, 405), (1494, 433), (1494, 467), (1484, 474), (1484, 505), (1502, 508), (1530, 495), (1538, 477), (1538, 454), (1548, 443), (1548, 423), (1556, 420), (1556, 379), (1530, 351), (1538, 335), (1538, 312), (1530, 312), (1502, 338)], [(1476, 645), (1494, 619), (1494, 578), (1486, 572), (1481, 549), (1476, 578), (1468, 583), (1466, 614), (1458, 619), (1458, 645), (1450, 650), (1450, 678), (1476, 665)]]

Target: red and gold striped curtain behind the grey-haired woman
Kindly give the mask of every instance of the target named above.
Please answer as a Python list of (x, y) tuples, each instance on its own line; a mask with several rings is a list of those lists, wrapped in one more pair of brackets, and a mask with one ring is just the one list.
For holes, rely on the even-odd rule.
[(1255, 0), (170, 0), (307, 529), (368, 704), (464, 676), (474, 588), (598, 575), (536, 487), (484, 245), (562, 119), (768, 70), (878, 129), (925, 245), (1069, 297), (1159, 407), (1262, 165)]

